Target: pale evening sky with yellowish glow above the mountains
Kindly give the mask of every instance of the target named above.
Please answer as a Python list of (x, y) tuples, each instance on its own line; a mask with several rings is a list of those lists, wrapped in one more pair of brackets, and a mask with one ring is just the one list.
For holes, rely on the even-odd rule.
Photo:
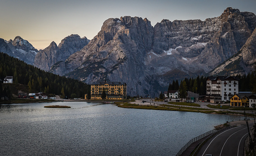
[(92, 39), (109, 18), (205, 21), (227, 8), (256, 14), (256, 0), (0, 0), (0, 38), (21, 36), (35, 48), (57, 45), (71, 34)]

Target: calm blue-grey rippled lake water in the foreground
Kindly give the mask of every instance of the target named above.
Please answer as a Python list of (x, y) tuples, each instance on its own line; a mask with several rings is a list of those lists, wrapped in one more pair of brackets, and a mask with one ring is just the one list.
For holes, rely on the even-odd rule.
[[(65, 105), (71, 108), (44, 108)], [(239, 117), (87, 102), (0, 105), (1, 156), (175, 156)]]

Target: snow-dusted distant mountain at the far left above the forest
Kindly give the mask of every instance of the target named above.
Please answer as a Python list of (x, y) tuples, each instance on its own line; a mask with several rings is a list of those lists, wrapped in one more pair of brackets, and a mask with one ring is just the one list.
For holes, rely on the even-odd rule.
[(34, 64), (34, 59), (38, 50), (27, 40), (16, 36), (14, 40), (5, 41), (0, 38), (0, 52), (24, 60), (28, 64)]

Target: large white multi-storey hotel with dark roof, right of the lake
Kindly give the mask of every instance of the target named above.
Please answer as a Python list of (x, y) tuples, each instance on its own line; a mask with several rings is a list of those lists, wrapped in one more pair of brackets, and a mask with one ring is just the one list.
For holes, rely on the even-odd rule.
[(236, 76), (210, 76), (206, 82), (206, 95), (211, 96), (214, 103), (230, 100), (238, 93), (238, 83)]

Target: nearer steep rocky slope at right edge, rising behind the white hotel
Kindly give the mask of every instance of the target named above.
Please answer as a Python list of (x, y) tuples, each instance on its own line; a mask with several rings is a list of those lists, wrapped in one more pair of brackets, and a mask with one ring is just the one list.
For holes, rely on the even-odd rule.
[(209, 75), (248, 74), (254, 71), (255, 66), (256, 29), (237, 54), (218, 65), (218, 67), (209, 72)]

